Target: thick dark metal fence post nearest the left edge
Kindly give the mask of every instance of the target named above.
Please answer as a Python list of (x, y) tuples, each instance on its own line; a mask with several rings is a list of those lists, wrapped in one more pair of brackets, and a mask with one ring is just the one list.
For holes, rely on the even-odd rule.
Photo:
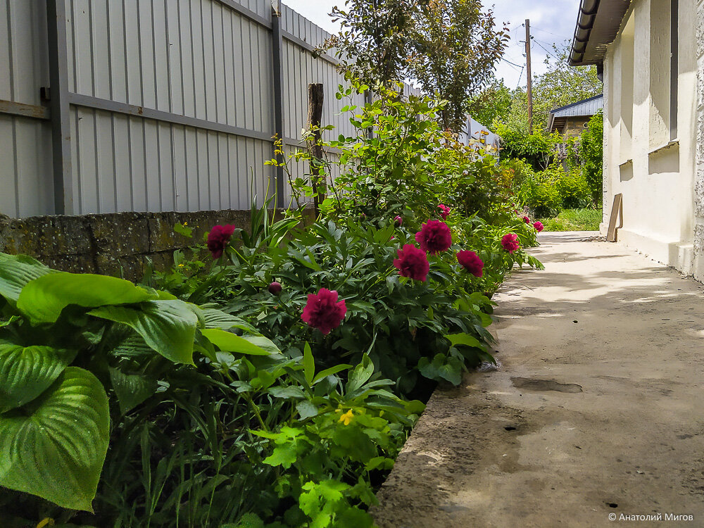
[(65, 0), (46, 0), (46, 26), (49, 39), (49, 108), (51, 108), (51, 154), (54, 165), (54, 214), (73, 215)]

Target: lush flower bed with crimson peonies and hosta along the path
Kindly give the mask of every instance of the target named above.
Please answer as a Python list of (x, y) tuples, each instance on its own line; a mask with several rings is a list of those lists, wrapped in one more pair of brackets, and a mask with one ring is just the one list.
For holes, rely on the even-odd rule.
[(437, 108), (352, 108), (318, 220), (253, 206), (149, 285), (0, 255), (4, 525), (371, 526), (422, 400), (493, 360), (491, 294), (540, 266)]

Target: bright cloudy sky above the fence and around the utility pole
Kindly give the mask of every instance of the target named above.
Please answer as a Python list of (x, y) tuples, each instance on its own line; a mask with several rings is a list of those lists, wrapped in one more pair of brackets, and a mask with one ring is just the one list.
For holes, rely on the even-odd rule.
[[(328, 32), (337, 32), (339, 25), (328, 16), (333, 6), (344, 6), (344, 0), (283, 0), (301, 15)], [(526, 18), (530, 19), (532, 34), (532, 67), (534, 75), (546, 71), (543, 63), (548, 51), (553, 54), (552, 44), (572, 41), (577, 25), (579, 0), (482, 0), (485, 7), (494, 6), (494, 17), (498, 23), (507, 23), (510, 42), (496, 76), (502, 78), (510, 88), (525, 86)], [(512, 64), (513, 63), (513, 64)]]

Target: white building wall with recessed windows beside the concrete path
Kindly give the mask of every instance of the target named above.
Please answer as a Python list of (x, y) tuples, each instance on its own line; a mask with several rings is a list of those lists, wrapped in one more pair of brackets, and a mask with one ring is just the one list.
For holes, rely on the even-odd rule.
[(619, 241), (691, 274), (696, 271), (698, 144), (693, 42), (696, 34), (701, 42), (696, 13), (704, 0), (679, 4), (676, 138), (670, 138), (670, 1), (634, 1), (606, 54), (602, 230), (608, 227), (615, 194), (621, 193)]

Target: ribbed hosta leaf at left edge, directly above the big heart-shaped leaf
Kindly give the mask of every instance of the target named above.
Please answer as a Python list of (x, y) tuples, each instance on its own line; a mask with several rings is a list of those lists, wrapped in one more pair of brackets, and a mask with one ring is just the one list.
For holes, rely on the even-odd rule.
[(0, 413), (37, 398), (75, 356), (49, 346), (0, 344)]

